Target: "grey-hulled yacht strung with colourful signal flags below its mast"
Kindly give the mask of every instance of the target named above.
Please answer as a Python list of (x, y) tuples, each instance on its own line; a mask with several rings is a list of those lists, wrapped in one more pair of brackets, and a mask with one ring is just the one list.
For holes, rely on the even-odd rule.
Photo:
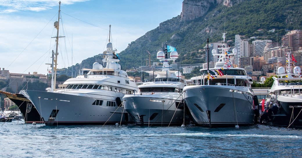
[(185, 105), (191, 112), (196, 125), (221, 127), (252, 125), (254, 122), (253, 91), (250, 77), (243, 68), (234, 68), (225, 43), (220, 53), (214, 49), (213, 55), (219, 57), (214, 68), (201, 69), (201, 76), (194, 77), (196, 85), (184, 87)]

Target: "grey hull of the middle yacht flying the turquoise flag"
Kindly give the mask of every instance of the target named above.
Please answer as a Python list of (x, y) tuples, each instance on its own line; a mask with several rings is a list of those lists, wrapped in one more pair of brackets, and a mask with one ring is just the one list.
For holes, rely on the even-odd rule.
[(123, 100), (125, 110), (137, 125), (180, 125), (184, 121), (184, 106), (179, 96), (180, 93), (126, 95)]

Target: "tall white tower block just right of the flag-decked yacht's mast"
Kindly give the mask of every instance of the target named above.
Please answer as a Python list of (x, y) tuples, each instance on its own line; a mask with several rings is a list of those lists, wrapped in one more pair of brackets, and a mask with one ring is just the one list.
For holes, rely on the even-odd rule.
[(239, 65), (239, 58), (249, 56), (249, 42), (241, 40), (240, 35), (235, 35), (235, 48), (237, 49), (237, 55), (235, 56), (235, 63)]

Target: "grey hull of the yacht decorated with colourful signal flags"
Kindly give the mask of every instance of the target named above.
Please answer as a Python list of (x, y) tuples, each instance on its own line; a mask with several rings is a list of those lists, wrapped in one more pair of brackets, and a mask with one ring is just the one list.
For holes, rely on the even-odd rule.
[[(185, 89), (185, 104), (196, 125), (223, 127), (254, 123), (253, 96), (223, 86), (194, 86)], [(242, 92), (242, 91), (240, 91)]]

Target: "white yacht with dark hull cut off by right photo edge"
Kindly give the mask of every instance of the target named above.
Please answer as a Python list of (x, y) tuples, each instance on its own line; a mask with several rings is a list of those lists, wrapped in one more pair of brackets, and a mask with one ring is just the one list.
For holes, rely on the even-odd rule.
[[(272, 103), (272, 124), (285, 127), (302, 127), (302, 77), (301, 68), (294, 66), (291, 51), (286, 52), (286, 70), (278, 68), (277, 77), (268, 90)], [(292, 67), (294, 73), (292, 73)]]

